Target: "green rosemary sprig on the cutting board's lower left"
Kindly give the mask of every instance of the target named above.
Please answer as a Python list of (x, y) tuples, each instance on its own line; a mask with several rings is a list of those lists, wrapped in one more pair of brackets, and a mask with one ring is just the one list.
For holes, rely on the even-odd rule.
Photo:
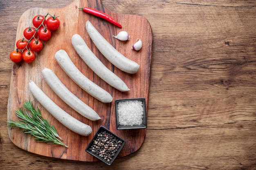
[[(60, 139), (62, 138), (58, 135), (55, 127), (50, 125), (48, 119), (44, 119), (41, 115), (38, 107), (35, 109), (32, 101), (27, 101), (23, 104), (23, 108), (20, 108), (15, 111), (16, 116), (22, 120), (13, 121), (10, 120), (7, 127), (13, 128), (21, 128), (23, 133), (29, 133), (33, 135), (37, 142), (47, 142), (48, 144), (60, 144), (65, 147)], [(27, 112), (29, 111), (29, 112)]]

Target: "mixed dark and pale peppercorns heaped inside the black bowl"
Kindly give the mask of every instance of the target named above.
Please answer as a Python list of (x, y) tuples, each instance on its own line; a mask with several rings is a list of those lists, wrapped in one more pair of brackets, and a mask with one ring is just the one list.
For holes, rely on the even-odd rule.
[(114, 135), (102, 131), (99, 132), (89, 150), (99, 155), (99, 157), (110, 162), (121, 147), (122, 141)]

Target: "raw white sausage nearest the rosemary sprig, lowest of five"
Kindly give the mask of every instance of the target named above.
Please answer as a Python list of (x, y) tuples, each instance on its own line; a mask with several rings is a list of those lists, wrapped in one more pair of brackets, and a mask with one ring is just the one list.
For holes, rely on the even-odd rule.
[(29, 82), (29, 89), (34, 98), (68, 129), (83, 136), (88, 136), (92, 133), (92, 128), (89, 125), (80, 122), (58, 107), (33, 81)]

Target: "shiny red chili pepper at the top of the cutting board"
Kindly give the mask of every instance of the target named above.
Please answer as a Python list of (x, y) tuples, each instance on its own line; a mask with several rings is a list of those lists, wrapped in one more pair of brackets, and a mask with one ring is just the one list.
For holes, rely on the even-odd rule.
[(106, 13), (103, 13), (101, 11), (98, 11), (98, 10), (92, 9), (92, 8), (88, 8), (88, 7), (83, 7), (83, 8), (79, 8), (79, 9), (82, 9), (85, 13), (89, 13), (89, 14), (92, 14), (94, 16), (100, 17), (104, 20), (107, 20), (108, 22), (114, 24), (115, 26), (118, 26), (119, 28), (122, 28), (121, 24), (119, 24), (116, 20), (114, 20), (112, 17), (110, 17)]

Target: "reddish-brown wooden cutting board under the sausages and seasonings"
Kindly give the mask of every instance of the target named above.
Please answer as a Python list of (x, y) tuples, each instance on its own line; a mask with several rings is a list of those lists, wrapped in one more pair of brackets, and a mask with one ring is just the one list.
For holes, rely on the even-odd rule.
[[(79, 10), (79, 7), (90, 7), (103, 11), (112, 16), (123, 26), (118, 28), (109, 22), (86, 14)], [(42, 112), (43, 118), (48, 118), (49, 122), (56, 127), (59, 135), (63, 138), (63, 143), (68, 146), (65, 148), (61, 145), (45, 144), (34, 141), (34, 137), (25, 135), (20, 132), (20, 129), (8, 129), (9, 137), (13, 144), (27, 150), (31, 153), (44, 155), (47, 157), (78, 160), (78, 161), (98, 161), (92, 155), (85, 152), (85, 148), (96, 133), (99, 126), (105, 126), (113, 133), (119, 135), (126, 140), (126, 145), (119, 154), (119, 157), (124, 157), (137, 151), (144, 142), (146, 136), (146, 129), (140, 130), (117, 130), (115, 126), (115, 99), (121, 98), (146, 98), (146, 110), (148, 110), (148, 95), (150, 86), (150, 65), (152, 57), (153, 33), (149, 22), (138, 15), (127, 15), (112, 13), (101, 4), (100, 0), (74, 0), (70, 5), (60, 9), (42, 9), (33, 8), (27, 10), (20, 17), (18, 23), (16, 41), (23, 37), (23, 30), (31, 26), (32, 18), (35, 15), (45, 15), (49, 12), (52, 15), (59, 16), (61, 26), (57, 31), (52, 33), (50, 40), (44, 42), (43, 50), (36, 54), (36, 59), (32, 63), (21, 62), (18, 64), (13, 63), (8, 110), (8, 120), (18, 120), (15, 115), (15, 110), (22, 107), (25, 101), (32, 100), (34, 106), (39, 107)], [(132, 59), (140, 65), (139, 72), (136, 74), (128, 74), (115, 68), (99, 50), (94, 46), (90, 40), (89, 35), (85, 29), (85, 22), (90, 21), (95, 28), (105, 37), (110, 44), (112, 44), (124, 56)], [(112, 37), (117, 35), (119, 31), (127, 31), (130, 34), (130, 41), (119, 41)], [(71, 37), (74, 34), (81, 35), (92, 52), (117, 76), (119, 76), (130, 88), (129, 92), (120, 92), (105, 83), (101, 78), (88, 68), (82, 59), (76, 54), (72, 43)], [(140, 51), (131, 50), (132, 45), (136, 39), (141, 39), (143, 47)], [(15, 46), (15, 44), (13, 44)], [(16, 47), (14, 48), (16, 49)], [(76, 67), (91, 81), (112, 94), (113, 101), (111, 103), (102, 103), (84, 92), (78, 85), (76, 85), (65, 72), (61, 69), (54, 59), (56, 51), (63, 49), (69, 54), (71, 60)], [(63, 84), (70, 89), (78, 98), (83, 100), (87, 105), (92, 107), (101, 117), (101, 120), (92, 122), (79, 115), (76, 111), (67, 106), (58, 96), (49, 88), (47, 83), (42, 77), (42, 70), (44, 68), (52, 69), (55, 74), (60, 78)], [(60, 106), (67, 113), (74, 118), (84, 122), (92, 127), (90, 136), (85, 137), (78, 135), (65, 126), (60, 124), (53, 118), (31, 95), (28, 88), (28, 83), (33, 80), (44, 92), (51, 98), (58, 106)]]

